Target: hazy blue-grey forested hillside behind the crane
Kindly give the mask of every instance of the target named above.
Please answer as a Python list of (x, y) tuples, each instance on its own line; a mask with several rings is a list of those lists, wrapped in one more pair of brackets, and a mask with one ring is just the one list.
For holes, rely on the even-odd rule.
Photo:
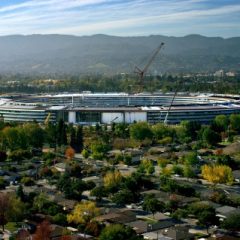
[(240, 37), (114, 37), (29, 35), (0, 37), (1, 73), (119, 73), (142, 67), (165, 42), (149, 72), (238, 70)]

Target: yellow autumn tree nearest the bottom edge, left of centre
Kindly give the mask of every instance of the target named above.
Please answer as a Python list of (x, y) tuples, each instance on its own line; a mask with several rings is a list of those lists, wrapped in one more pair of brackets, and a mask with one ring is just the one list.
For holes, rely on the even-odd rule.
[(75, 224), (87, 224), (100, 214), (95, 202), (86, 201), (78, 203), (73, 211), (67, 215), (67, 221)]

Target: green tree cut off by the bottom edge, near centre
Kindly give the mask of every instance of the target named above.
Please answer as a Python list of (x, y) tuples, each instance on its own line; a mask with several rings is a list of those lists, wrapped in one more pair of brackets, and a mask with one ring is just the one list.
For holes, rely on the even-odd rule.
[(103, 229), (99, 240), (140, 240), (142, 237), (137, 236), (131, 227), (125, 227), (120, 224), (109, 225)]

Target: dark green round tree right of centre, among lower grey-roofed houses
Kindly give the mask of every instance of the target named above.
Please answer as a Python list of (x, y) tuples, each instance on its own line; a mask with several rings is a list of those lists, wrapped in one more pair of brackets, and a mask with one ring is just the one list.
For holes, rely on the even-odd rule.
[(164, 203), (157, 200), (153, 194), (148, 194), (144, 197), (142, 207), (143, 210), (151, 212), (154, 215), (156, 212), (163, 210)]

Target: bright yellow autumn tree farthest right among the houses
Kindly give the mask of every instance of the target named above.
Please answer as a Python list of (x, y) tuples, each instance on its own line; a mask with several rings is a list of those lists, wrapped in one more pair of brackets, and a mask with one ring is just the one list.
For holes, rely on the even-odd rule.
[(202, 177), (212, 183), (232, 184), (234, 180), (232, 169), (226, 165), (204, 165)]

